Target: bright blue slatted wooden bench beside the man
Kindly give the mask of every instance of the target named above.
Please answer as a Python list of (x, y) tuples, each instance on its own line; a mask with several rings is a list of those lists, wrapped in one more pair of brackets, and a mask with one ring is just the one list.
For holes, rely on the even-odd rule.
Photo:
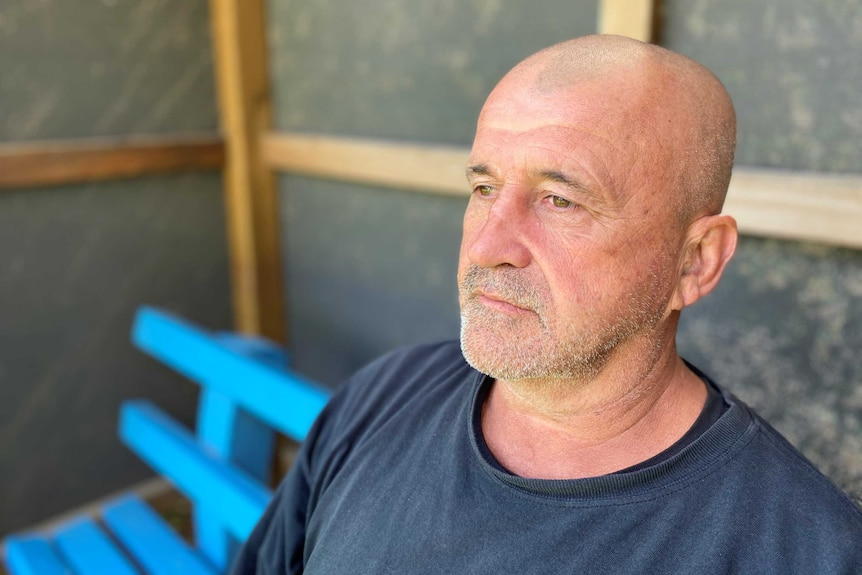
[(224, 573), (272, 496), (275, 434), (302, 441), (328, 399), (325, 388), (291, 373), (283, 351), (263, 339), (213, 334), (146, 307), (132, 339), (201, 385), (196, 432), (146, 400), (125, 402), (119, 424), (122, 441), (191, 501), (194, 545), (129, 494), (98, 517), (8, 537), (10, 573)]

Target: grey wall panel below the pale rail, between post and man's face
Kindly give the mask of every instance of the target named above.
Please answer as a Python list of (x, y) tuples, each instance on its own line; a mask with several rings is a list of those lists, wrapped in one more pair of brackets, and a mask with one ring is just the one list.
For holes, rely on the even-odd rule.
[(458, 337), (465, 198), (283, 178), (295, 366), (329, 385), (410, 343)]

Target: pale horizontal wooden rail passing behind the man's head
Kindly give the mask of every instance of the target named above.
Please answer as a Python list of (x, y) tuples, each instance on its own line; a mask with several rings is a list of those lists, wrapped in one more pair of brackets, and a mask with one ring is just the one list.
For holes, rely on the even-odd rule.
[[(263, 158), (283, 172), (466, 197), (466, 148), (266, 134)], [(738, 167), (725, 213), (742, 233), (862, 248), (862, 176)]]

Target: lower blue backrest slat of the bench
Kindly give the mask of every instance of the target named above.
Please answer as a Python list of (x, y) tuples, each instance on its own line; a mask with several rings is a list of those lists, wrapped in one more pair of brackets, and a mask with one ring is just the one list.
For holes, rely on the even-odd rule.
[(240, 540), (249, 536), (272, 498), (268, 488), (207, 453), (191, 433), (149, 401), (123, 404), (120, 437), (195, 505), (212, 510)]

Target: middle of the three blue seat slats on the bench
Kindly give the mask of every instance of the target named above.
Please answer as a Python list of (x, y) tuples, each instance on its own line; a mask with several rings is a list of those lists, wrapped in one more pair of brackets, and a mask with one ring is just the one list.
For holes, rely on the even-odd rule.
[(78, 575), (140, 574), (89, 517), (81, 517), (62, 526), (54, 533), (54, 541)]

